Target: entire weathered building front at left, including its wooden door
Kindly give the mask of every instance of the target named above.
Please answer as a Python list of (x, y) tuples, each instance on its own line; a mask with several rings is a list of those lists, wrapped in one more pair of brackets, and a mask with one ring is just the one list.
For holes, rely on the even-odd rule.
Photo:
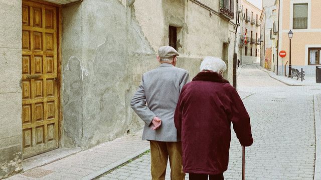
[[(172, 45), (194, 77), (206, 55), (232, 81), (236, 0), (0, 0), (0, 178), (24, 158), (136, 131), (129, 102)], [(149, 10), (146, 10), (149, 9)]]

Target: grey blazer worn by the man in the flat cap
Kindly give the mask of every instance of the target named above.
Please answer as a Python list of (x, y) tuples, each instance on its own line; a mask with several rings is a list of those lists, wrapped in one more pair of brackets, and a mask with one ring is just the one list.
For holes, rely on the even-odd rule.
[[(188, 82), (187, 70), (162, 63), (159, 67), (145, 72), (141, 84), (131, 99), (131, 108), (145, 122), (142, 139), (157, 141), (180, 141), (174, 124), (174, 113), (183, 85)], [(162, 125), (156, 130), (150, 128), (157, 116)]]

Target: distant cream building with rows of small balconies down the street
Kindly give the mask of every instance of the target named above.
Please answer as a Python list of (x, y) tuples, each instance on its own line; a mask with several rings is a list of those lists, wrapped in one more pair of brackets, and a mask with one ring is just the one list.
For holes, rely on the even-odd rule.
[(239, 0), (240, 27), (238, 29), (238, 51), (241, 64), (255, 63), (259, 60), (261, 9), (247, 0)]

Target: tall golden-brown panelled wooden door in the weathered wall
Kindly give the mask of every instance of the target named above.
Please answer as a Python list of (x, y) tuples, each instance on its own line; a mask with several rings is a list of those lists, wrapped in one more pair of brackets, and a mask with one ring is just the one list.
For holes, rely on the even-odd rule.
[(59, 7), (22, 2), (23, 157), (59, 147)]

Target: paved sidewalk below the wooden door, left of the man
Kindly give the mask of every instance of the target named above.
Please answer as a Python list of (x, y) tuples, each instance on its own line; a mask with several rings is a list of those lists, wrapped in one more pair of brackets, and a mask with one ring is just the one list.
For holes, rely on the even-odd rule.
[(92, 179), (149, 149), (141, 131), (99, 144), (7, 179)]

